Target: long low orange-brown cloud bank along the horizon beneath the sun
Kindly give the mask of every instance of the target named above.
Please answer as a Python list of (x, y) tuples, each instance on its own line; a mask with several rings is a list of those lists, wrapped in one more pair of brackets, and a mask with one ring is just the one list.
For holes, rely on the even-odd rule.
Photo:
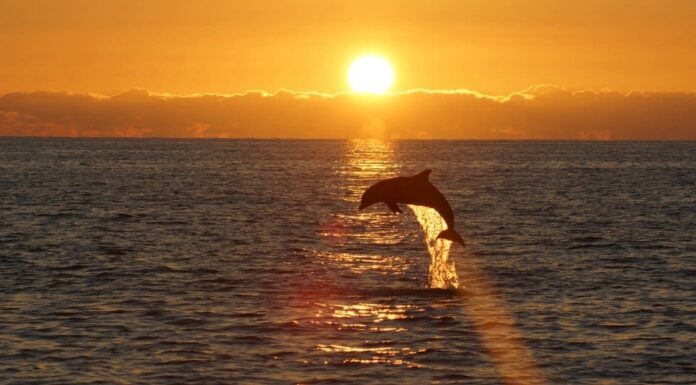
[(0, 135), (185, 138), (696, 139), (696, 93), (570, 91), (385, 96), (280, 90), (234, 95), (0, 95)]

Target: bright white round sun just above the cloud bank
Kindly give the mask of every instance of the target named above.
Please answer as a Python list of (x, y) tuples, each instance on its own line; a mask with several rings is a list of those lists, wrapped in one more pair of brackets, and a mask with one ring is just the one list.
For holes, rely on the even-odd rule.
[(348, 69), (348, 83), (355, 92), (383, 94), (394, 81), (394, 71), (389, 62), (379, 56), (363, 56)]

